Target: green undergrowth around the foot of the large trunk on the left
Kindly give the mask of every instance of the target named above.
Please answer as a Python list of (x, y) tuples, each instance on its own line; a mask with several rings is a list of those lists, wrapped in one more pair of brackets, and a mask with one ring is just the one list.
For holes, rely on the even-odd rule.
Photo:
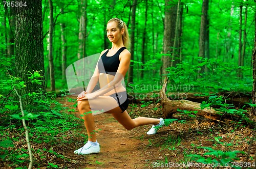
[[(32, 83), (40, 83), (40, 74), (34, 72), (31, 74), (30, 80)], [(19, 78), (11, 76), (10, 83), (15, 84), (17, 89), (24, 87), (24, 82)], [(1, 86), (1, 85), (0, 85)], [(10, 89), (11, 90), (11, 89)], [(25, 117), (20, 114), (20, 109), (17, 102), (14, 102), (10, 96), (3, 95), (1, 100), (3, 108), (0, 109), (0, 161), (9, 161), (12, 166), (24, 166), (29, 160), (27, 150), (21, 146), (14, 144), (17, 142), (26, 144), (25, 142), (25, 129), (21, 126), (22, 120), (25, 119), (29, 130), (29, 139), (31, 144), (47, 144), (48, 146), (55, 146), (59, 144), (67, 144), (72, 142), (69, 138), (68, 132), (76, 129), (79, 124), (74, 124), (77, 118), (74, 115), (68, 115), (65, 107), (62, 106), (56, 98), (48, 93), (33, 92), (25, 94), (31, 97), (37, 106), (33, 107), (33, 112), (24, 109)], [(9, 97), (6, 99), (5, 97)], [(23, 99), (24, 96), (22, 96)], [(2, 99), (0, 98), (0, 99)], [(52, 105), (52, 106), (51, 106)], [(49, 107), (51, 106), (51, 109)], [(16, 136), (9, 136), (10, 130), (15, 130)], [(84, 135), (83, 135), (84, 136)], [(87, 139), (86, 136), (84, 136)], [(47, 151), (47, 149), (45, 149)], [(34, 152), (33, 150), (33, 153)], [(38, 153), (41, 153), (38, 151)], [(64, 158), (53, 151), (51, 148), (47, 153), (54, 154), (57, 158)], [(58, 168), (57, 165), (49, 163), (49, 167)]]

